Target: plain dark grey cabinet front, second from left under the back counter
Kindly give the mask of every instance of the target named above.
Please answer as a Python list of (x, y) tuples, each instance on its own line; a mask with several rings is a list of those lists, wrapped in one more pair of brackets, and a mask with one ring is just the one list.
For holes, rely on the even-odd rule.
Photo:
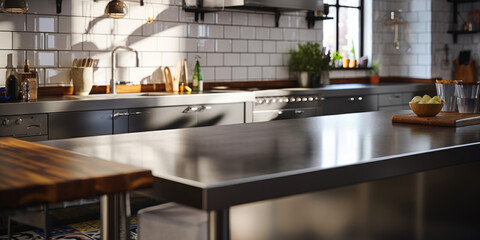
[(86, 137), (112, 133), (112, 110), (48, 114), (49, 139)]

